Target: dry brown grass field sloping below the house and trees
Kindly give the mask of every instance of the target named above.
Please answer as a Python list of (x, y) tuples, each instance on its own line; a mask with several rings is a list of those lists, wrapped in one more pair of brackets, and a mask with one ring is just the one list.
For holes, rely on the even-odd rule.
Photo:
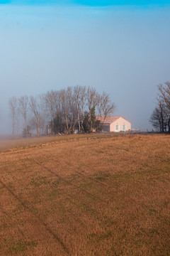
[(170, 136), (0, 142), (0, 255), (169, 256)]

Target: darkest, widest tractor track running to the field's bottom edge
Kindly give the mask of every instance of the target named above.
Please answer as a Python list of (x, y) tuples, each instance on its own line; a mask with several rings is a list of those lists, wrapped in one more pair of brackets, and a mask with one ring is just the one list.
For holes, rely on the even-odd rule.
[[(60, 237), (59, 237), (56, 233), (54, 233), (54, 232), (48, 227), (47, 223), (45, 223), (45, 221), (42, 220), (42, 219), (40, 218), (40, 216), (38, 216), (36, 213), (34, 213), (33, 210), (32, 210), (29, 206), (27, 206), (26, 203), (24, 203), (24, 202), (21, 200), (21, 198), (19, 198), (19, 197), (16, 195), (16, 193), (14, 193), (14, 192), (11, 190), (11, 188), (8, 188), (8, 186), (6, 186), (6, 183), (4, 183), (3, 181), (1, 181), (1, 179), (0, 179), (0, 183), (1, 183), (1, 185), (2, 185), (4, 188), (6, 188), (6, 190), (8, 191), (8, 193), (10, 193), (10, 194), (13, 196), (13, 198), (15, 198), (19, 203), (21, 203), (21, 206), (23, 206), (23, 208), (24, 208), (25, 210), (28, 210), (35, 218), (38, 219), (38, 221), (40, 222), (40, 224), (44, 226), (45, 230), (47, 230), (47, 232), (52, 236), (52, 238), (53, 238), (55, 241), (57, 241), (58, 243), (60, 243), (60, 245), (61, 245), (62, 249), (64, 250), (64, 252), (66, 252), (67, 255), (71, 255), (71, 254), (69, 253), (69, 250), (68, 250), (68, 248), (66, 247), (66, 245), (64, 245), (64, 242), (62, 242), (62, 240), (60, 239)], [(4, 214), (6, 214), (6, 213), (4, 213)], [(6, 215), (8, 215), (8, 214), (6, 214)]]

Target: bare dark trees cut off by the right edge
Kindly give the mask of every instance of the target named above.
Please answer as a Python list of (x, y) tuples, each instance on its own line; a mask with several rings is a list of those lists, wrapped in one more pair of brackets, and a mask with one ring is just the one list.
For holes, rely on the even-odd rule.
[(156, 107), (150, 116), (149, 122), (159, 132), (170, 133), (170, 82), (157, 85)]

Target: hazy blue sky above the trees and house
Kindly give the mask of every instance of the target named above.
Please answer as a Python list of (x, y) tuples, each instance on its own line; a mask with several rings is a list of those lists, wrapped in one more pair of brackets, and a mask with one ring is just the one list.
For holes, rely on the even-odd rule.
[(10, 97), (74, 85), (108, 92), (115, 114), (152, 129), (170, 80), (170, 1), (0, 0), (0, 70), (0, 132)]

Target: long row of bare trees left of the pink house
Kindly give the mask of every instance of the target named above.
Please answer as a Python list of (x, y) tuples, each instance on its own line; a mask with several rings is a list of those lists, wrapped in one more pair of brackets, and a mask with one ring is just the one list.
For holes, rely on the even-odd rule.
[[(8, 100), (13, 137), (28, 137), (36, 131), (45, 134), (92, 132), (96, 126), (96, 112), (104, 117), (115, 110), (106, 92), (94, 87), (77, 85), (62, 90), (51, 90), (37, 96), (11, 97)], [(100, 127), (102, 124), (100, 124)]]

